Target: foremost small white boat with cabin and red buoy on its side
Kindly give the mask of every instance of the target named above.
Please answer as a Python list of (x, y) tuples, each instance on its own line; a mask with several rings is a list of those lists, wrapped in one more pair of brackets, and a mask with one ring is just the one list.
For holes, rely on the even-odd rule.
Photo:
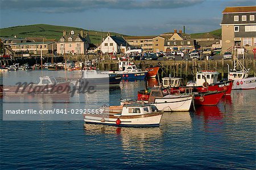
[(106, 107), (102, 114), (85, 113), (84, 121), (118, 127), (159, 127), (162, 115), (161, 111), (152, 111), (150, 105), (131, 103), (119, 108)]

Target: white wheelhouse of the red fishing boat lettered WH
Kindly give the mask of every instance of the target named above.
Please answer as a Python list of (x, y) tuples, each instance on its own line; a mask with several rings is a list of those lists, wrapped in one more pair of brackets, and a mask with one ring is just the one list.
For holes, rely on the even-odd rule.
[(201, 71), (196, 73), (196, 82), (188, 82), (187, 86), (202, 86), (204, 82), (214, 84), (218, 80), (218, 72), (216, 71)]

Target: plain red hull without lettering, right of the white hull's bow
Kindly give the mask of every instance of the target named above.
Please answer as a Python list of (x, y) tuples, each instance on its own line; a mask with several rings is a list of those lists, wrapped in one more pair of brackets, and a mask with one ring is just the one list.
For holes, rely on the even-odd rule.
[(195, 105), (217, 105), (220, 99), (224, 96), (224, 93), (224, 91), (194, 93)]

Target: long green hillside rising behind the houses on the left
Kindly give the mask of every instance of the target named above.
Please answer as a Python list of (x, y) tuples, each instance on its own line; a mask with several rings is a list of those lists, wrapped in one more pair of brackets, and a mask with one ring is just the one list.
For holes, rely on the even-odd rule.
[[(0, 29), (0, 36), (1, 37), (13, 37), (17, 35), (18, 38), (26, 38), (26, 37), (39, 37), (44, 36), (48, 39), (56, 39), (59, 40), (60, 37), (63, 35), (63, 30), (69, 32), (74, 30), (75, 33), (84, 30), (82, 28), (76, 27), (65, 27), (65, 26), (52, 26), (48, 24), (35, 24), (29, 26), (16, 26), (16, 27), (9, 27), (9, 28), (1, 28)], [(101, 31), (94, 31), (94, 30), (84, 30), (85, 32), (88, 31), (90, 35), (90, 40), (94, 44), (100, 43), (101, 34), (102, 36), (106, 36), (108, 32), (101, 32)], [(111, 35), (119, 35), (115, 32), (110, 32)]]

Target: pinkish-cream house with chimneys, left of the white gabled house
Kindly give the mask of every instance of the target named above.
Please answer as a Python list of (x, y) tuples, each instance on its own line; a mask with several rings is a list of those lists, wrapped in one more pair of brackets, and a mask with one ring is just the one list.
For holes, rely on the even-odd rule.
[(75, 34), (75, 31), (70, 31), (67, 34), (63, 31), (63, 36), (57, 42), (57, 53), (72, 53), (72, 54), (86, 54), (86, 50), (89, 48), (90, 38), (88, 33), (84, 35), (84, 31), (80, 31), (80, 34)]

